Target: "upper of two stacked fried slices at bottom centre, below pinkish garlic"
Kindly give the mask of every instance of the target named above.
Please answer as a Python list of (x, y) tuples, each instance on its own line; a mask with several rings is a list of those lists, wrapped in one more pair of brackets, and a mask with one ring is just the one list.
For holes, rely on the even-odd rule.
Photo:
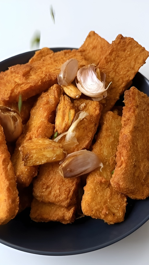
[(33, 196), (38, 201), (68, 207), (76, 204), (79, 183), (79, 178), (61, 175), (59, 162), (46, 163), (39, 167), (37, 179), (34, 179)]

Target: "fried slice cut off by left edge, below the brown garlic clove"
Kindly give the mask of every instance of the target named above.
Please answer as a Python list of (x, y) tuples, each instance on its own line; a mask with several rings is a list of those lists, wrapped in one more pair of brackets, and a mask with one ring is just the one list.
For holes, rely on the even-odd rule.
[(16, 176), (1, 125), (0, 146), (0, 224), (3, 225), (16, 216), (19, 209), (19, 197)]

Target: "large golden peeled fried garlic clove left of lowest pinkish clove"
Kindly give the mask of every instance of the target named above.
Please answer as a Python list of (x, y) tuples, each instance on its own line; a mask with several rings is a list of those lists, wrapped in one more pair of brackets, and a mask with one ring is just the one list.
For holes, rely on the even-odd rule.
[(19, 149), (25, 166), (60, 161), (67, 154), (61, 144), (47, 138), (34, 138)]

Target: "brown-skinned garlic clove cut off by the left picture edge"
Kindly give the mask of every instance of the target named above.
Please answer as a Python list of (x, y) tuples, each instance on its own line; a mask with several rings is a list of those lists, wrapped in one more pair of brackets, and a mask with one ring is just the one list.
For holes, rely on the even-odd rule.
[(0, 105), (0, 123), (2, 125), (6, 142), (14, 142), (23, 132), (23, 125), (20, 113)]

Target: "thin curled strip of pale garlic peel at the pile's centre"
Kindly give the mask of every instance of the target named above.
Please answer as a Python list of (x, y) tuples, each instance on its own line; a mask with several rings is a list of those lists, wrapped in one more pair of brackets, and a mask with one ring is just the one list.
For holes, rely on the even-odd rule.
[(71, 148), (73, 146), (75, 146), (76, 144), (78, 144), (78, 141), (75, 137), (75, 133), (76, 133), (76, 127), (78, 125), (78, 123), (84, 119), (86, 116), (88, 116), (88, 113), (86, 111), (79, 111), (76, 115), (75, 118), (73, 120), (73, 123), (71, 124), (69, 130), (65, 133), (61, 133), (59, 136), (57, 136), (54, 141), (58, 142), (61, 137), (63, 137), (64, 135), (66, 135), (65, 137), (65, 142), (62, 144), (63, 147), (67, 150), (68, 148)]

